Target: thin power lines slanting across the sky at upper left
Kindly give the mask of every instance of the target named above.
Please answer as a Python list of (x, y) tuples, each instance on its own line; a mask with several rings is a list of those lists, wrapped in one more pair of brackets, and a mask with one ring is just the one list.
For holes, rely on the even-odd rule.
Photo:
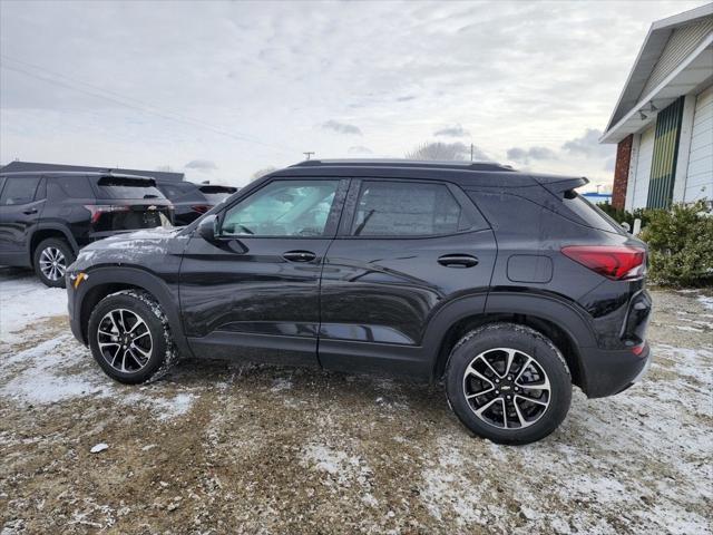
[[(45, 76), (38, 75), (37, 72), (31, 72), (31, 71), (29, 71), (27, 69), (22, 69), (22, 68), (17, 67), (17, 66), (11, 66), (11, 65), (7, 65), (4, 62), (0, 62), (0, 66), (2, 68), (16, 71), (16, 72), (23, 74), (26, 76), (29, 76), (31, 78), (36, 78), (36, 79), (45, 81), (47, 84), (61, 86), (61, 87), (65, 87), (65, 88), (68, 88), (68, 89), (71, 89), (71, 90), (75, 90), (75, 91), (78, 91), (78, 93), (82, 93), (85, 95), (89, 95), (89, 96), (92, 96), (92, 97), (96, 97), (96, 98), (102, 98), (105, 100), (118, 104), (120, 106), (141, 111), (144, 114), (150, 114), (150, 115), (155, 115), (157, 117), (162, 117), (164, 119), (173, 120), (173, 121), (176, 121), (176, 123), (184, 123), (184, 124), (187, 124), (189, 126), (197, 126), (199, 128), (205, 128), (205, 129), (211, 130), (211, 132), (213, 132), (215, 134), (219, 134), (219, 135), (223, 135), (223, 136), (232, 137), (233, 139), (237, 139), (237, 140), (241, 140), (241, 142), (252, 143), (252, 144), (255, 144), (255, 145), (262, 145), (262, 146), (264, 146), (266, 148), (279, 150), (279, 152), (284, 153), (284, 154), (294, 154), (295, 152), (299, 152), (296, 148), (292, 152), (292, 149), (287, 150), (284, 147), (281, 147), (281, 146), (277, 146), (277, 145), (271, 145), (268, 143), (264, 143), (264, 142), (262, 142), (262, 140), (260, 140), (260, 139), (257, 139), (255, 137), (252, 137), (252, 136), (227, 132), (227, 130), (217, 128), (217, 127), (215, 127), (215, 126), (213, 126), (211, 124), (207, 124), (205, 121), (202, 121), (199, 119), (194, 119), (192, 117), (186, 117), (186, 116), (179, 115), (179, 114), (177, 114), (175, 111), (162, 110), (160, 108), (158, 108), (156, 106), (143, 103), (141, 100), (138, 100), (136, 98), (127, 97), (125, 95), (120, 95), (118, 93), (110, 91), (110, 90), (107, 90), (107, 89), (98, 87), (98, 86), (94, 86), (94, 85), (88, 84), (86, 81), (81, 81), (81, 80), (69, 78), (69, 77), (67, 77), (65, 75), (61, 75), (61, 74), (56, 72), (56, 71), (51, 71), (51, 70), (46, 69), (43, 67), (39, 67), (39, 66), (32, 65), (32, 64), (28, 64), (27, 61), (21, 61), (19, 59), (10, 58), (9, 56), (6, 56), (6, 55), (0, 55), (0, 57), (3, 58), (4, 60), (10, 60), (10, 61), (13, 61), (13, 62), (17, 62), (17, 64), (21, 64), (21, 65), (26, 65), (28, 67), (31, 67), (32, 69), (37, 69), (37, 70), (43, 72)], [(68, 81), (62, 81), (61, 79), (57, 79), (57, 78), (64, 78), (65, 80), (68, 80)], [(88, 88), (90, 88), (92, 90), (88, 90), (88, 89), (85, 89), (85, 88), (81, 88), (81, 87), (77, 87), (77, 85), (86, 86), (86, 87), (88, 87)], [(136, 103), (136, 104), (130, 104), (130, 103)]]

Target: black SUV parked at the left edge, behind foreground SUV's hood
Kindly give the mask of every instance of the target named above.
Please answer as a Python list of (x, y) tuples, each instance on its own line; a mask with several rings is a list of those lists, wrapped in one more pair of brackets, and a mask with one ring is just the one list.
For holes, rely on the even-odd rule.
[(153, 178), (110, 173), (0, 174), (0, 264), (33, 268), (48, 286), (88, 243), (169, 226), (172, 205)]

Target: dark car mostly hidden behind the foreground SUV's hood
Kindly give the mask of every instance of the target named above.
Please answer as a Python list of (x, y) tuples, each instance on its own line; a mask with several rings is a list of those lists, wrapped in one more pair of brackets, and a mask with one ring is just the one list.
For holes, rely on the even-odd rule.
[(237, 192), (236, 187), (192, 182), (157, 182), (156, 187), (173, 203), (176, 226), (193, 223), (213, 206)]

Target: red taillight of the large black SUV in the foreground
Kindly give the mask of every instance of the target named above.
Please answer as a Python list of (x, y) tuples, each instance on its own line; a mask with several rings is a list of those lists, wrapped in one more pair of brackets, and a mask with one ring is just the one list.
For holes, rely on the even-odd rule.
[(614, 281), (644, 276), (646, 251), (626, 245), (568, 245), (563, 254)]

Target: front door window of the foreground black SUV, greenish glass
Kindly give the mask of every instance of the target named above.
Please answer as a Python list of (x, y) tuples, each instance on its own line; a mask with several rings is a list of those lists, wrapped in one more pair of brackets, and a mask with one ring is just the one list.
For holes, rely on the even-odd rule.
[(229, 208), (224, 235), (322, 236), (339, 181), (275, 181)]

